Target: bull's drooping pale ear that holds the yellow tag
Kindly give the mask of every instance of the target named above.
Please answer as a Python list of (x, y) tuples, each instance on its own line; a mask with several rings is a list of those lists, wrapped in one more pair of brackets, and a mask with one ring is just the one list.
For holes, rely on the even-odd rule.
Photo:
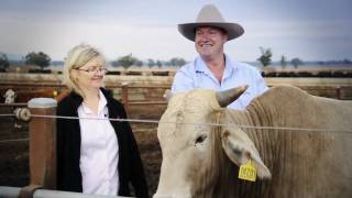
[(238, 166), (245, 164), (251, 158), (256, 167), (258, 178), (268, 179), (272, 177), (254, 143), (242, 130), (224, 131), (222, 134), (222, 147), (229, 158)]

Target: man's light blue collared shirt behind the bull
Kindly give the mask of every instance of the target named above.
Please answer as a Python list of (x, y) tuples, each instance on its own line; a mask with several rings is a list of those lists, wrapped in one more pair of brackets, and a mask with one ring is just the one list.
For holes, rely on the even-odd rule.
[(172, 92), (180, 92), (195, 88), (215, 89), (218, 91), (249, 85), (243, 95), (230, 103), (228, 108), (243, 110), (251, 100), (268, 88), (261, 74), (251, 65), (230, 59), (226, 55), (226, 67), (221, 82), (217, 80), (206, 63), (198, 56), (194, 62), (183, 66), (175, 75)]

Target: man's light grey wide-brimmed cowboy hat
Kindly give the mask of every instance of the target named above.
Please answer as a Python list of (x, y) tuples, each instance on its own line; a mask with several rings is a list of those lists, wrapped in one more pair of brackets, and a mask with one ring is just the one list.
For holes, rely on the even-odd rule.
[(199, 12), (196, 22), (178, 24), (178, 32), (190, 41), (195, 41), (195, 29), (198, 26), (216, 26), (223, 29), (230, 40), (241, 36), (243, 28), (238, 23), (228, 23), (222, 18), (220, 11), (213, 4), (206, 4)]

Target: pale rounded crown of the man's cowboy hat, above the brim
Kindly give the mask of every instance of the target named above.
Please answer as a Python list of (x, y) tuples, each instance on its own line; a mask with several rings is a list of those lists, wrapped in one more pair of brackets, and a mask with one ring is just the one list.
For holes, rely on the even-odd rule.
[(206, 4), (200, 11), (196, 19), (196, 22), (224, 22), (220, 11), (213, 4)]

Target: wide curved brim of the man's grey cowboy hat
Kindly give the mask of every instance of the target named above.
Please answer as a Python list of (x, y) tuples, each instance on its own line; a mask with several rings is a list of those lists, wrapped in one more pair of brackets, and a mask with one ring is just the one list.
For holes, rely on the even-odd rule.
[(183, 34), (185, 37), (187, 37), (188, 40), (195, 41), (195, 37), (196, 37), (195, 29), (198, 26), (216, 26), (216, 28), (223, 29), (224, 31), (227, 31), (229, 35), (228, 41), (237, 38), (244, 33), (243, 28), (238, 23), (215, 23), (215, 22), (178, 24), (178, 32)]

